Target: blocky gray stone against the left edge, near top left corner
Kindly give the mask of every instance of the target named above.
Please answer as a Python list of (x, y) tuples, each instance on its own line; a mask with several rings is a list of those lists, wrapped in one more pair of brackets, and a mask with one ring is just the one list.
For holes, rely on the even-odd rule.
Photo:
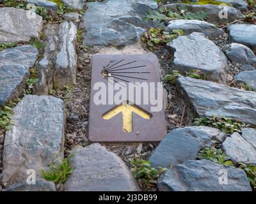
[(38, 38), (42, 29), (42, 17), (17, 8), (0, 8), (0, 43), (26, 42)]

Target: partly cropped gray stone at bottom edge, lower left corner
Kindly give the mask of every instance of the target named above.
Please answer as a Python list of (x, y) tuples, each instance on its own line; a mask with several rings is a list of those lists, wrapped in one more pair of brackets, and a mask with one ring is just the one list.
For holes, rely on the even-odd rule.
[(36, 180), (36, 184), (27, 182), (17, 182), (8, 186), (4, 191), (56, 191), (54, 183), (44, 179)]

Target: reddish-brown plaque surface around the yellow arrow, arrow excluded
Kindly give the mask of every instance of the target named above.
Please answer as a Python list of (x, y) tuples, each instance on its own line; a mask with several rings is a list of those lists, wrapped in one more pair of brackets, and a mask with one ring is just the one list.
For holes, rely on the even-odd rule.
[[(106, 70), (103, 70), (104, 68), (109, 69), (109, 71), (106, 73)], [(132, 78), (112, 75), (113, 72), (120, 71), (125, 72), (122, 73), (122, 76), (127, 76), (126, 72), (134, 73), (128, 73), (128, 76), (132, 76)], [(151, 113), (152, 117), (149, 120), (145, 120), (143, 117), (132, 113), (132, 131), (130, 133), (125, 133), (123, 130), (122, 113), (118, 113), (115, 117), (108, 120), (102, 119), (102, 115), (115, 108), (116, 105), (108, 105), (108, 103), (107, 105), (95, 105), (93, 96), (97, 90), (93, 90), (93, 86), (97, 82), (103, 82), (108, 87), (108, 72), (111, 72), (111, 76), (114, 77), (114, 84), (120, 82), (126, 85), (128, 82), (160, 82), (159, 62), (156, 55), (93, 55), (88, 130), (89, 140), (91, 142), (161, 141), (166, 135), (164, 108), (160, 112), (151, 112), (151, 105), (138, 105), (143, 110)], [(117, 73), (117, 75), (121, 74)], [(141, 92), (141, 96), (143, 96), (143, 92)]]

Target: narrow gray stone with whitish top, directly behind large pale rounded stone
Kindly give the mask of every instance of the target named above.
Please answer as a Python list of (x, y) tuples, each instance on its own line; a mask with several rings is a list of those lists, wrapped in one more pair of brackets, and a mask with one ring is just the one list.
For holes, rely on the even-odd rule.
[(173, 29), (181, 29), (185, 35), (193, 32), (204, 33), (205, 36), (212, 40), (225, 33), (222, 29), (217, 28), (215, 25), (209, 24), (202, 20), (172, 20), (164, 30), (172, 31)]

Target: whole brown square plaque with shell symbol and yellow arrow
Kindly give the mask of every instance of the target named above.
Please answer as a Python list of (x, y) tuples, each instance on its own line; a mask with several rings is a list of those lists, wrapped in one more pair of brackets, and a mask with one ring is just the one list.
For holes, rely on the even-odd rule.
[[(111, 81), (109, 76), (115, 81)], [(157, 86), (157, 82), (160, 82), (160, 77), (156, 55), (93, 55), (90, 141), (161, 141), (166, 135), (166, 122), (162, 100), (163, 87), (161, 83)], [(149, 83), (152, 85), (151, 94), (150, 90), (147, 94)], [(141, 85), (146, 88), (141, 89)], [(130, 97), (126, 90), (130, 91)], [(121, 99), (122, 92), (124, 97)], [(153, 95), (159, 98), (157, 105), (152, 104)], [(122, 105), (127, 100), (131, 105)]]

